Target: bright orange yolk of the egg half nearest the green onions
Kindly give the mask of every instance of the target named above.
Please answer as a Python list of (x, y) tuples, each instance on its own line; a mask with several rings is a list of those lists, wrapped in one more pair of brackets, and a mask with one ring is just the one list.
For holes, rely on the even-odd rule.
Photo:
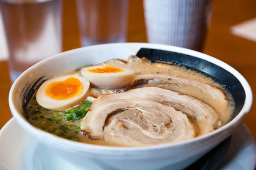
[(52, 82), (45, 89), (45, 94), (52, 99), (66, 100), (79, 96), (84, 86), (75, 77), (67, 78), (61, 82)]

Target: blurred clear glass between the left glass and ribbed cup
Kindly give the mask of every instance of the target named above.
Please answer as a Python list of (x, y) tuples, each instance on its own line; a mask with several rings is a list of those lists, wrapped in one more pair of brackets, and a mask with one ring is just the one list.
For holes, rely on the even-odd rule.
[(128, 0), (76, 0), (81, 45), (125, 42)]

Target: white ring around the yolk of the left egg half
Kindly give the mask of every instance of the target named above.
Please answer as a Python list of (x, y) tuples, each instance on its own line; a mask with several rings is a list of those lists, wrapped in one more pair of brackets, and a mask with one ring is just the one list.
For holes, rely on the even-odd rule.
[[(82, 93), (79, 94), (79, 96), (73, 97), (71, 99), (66, 99), (66, 100), (56, 100), (56, 99), (52, 99), (51, 97), (45, 94), (45, 90), (49, 84), (51, 84), (52, 82), (60, 82), (70, 77), (79, 79), (79, 81), (84, 87)], [(87, 91), (89, 90), (89, 87), (90, 87), (90, 82), (81, 76), (64, 75), (60, 77), (54, 77), (52, 79), (47, 80), (40, 86), (36, 94), (36, 100), (39, 105), (47, 109), (67, 110), (69, 108), (73, 108), (76, 105), (79, 105), (84, 99), (86, 99), (86, 95), (87, 95)]]

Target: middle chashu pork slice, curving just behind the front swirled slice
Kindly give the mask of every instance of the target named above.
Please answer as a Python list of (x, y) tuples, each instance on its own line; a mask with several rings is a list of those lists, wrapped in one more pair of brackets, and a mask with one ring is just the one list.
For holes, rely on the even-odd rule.
[(102, 95), (93, 102), (90, 109), (93, 110), (101, 107), (105, 102), (118, 99), (146, 99), (173, 107), (186, 114), (192, 123), (198, 127), (198, 136), (221, 126), (220, 116), (206, 103), (192, 96), (157, 87), (136, 88), (120, 94)]

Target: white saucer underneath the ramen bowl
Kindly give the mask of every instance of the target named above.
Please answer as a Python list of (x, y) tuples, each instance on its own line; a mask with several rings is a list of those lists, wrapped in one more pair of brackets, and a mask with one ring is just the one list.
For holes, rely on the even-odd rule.
[[(232, 135), (230, 148), (218, 170), (254, 170), (255, 167), (256, 144), (250, 130), (243, 125)], [(0, 170), (82, 169), (56, 156), (12, 118), (0, 131)]]

